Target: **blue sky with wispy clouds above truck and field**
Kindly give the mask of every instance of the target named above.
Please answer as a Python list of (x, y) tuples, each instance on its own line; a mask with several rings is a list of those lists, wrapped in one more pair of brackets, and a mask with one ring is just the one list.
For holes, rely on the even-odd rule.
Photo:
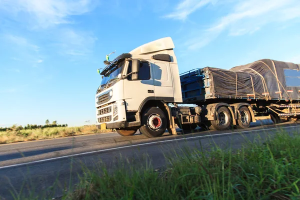
[(299, 10), (299, 0), (0, 0), (0, 126), (95, 123), (105, 54), (165, 36), (180, 72), (300, 63)]

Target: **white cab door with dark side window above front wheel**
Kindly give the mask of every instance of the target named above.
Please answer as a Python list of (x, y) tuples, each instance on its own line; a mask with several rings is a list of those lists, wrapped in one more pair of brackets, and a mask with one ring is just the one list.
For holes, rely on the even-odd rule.
[[(132, 61), (127, 61), (126, 72), (131, 72)], [(124, 79), (124, 99), (126, 101), (127, 110), (138, 110), (139, 105), (147, 97), (154, 97), (153, 75), (150, 63), (140, 61), (138, 80), (131, 80), (131, 75)]]

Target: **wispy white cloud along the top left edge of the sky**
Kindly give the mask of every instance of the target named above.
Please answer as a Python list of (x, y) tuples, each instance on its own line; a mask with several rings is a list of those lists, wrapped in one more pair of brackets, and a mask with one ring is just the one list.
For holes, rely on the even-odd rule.
[(21, 20), (33, 20), (34, 27), (47, 28), (61, 23), (72, 23), (71, 15), (91, 10), (97, 2), (90, 0), (1, 0), (0, 9), (17, 15), (29, 13)]

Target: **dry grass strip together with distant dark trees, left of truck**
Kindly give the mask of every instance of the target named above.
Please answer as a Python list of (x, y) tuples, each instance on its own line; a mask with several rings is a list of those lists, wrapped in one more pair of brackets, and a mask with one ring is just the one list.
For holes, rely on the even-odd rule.
[(45, 125), (27, 124), (24, 127), (13, 125), (11, 127), (0, 128), (0, 143), (94, 134), (108, 131), (112, 130), (99, 130), (95, 125), (67, 127), (67, 124), (57, 124), (56, 121), (50, 124), (48, 120), (46, 120)]

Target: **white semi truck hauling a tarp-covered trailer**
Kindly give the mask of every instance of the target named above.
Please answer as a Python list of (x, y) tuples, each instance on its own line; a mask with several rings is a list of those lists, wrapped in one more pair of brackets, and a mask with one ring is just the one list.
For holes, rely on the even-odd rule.
[[(270, 81), (257, 71), (251, 74), (257, 64), (267, 68), (260, 61), (235, 71), (205, 67), (179, 74), (173, 48), (172, 39), (165, 37), (105, 62), (95, 95), (98, 128), (113, 128), (123, 136), (139, 129), (158, 137), (166, 129), (176, 134), (176, 124), (183, 130), (197, 125), (224, 130), (247, 128), (258, 115), (271, 114), (274, 122), (297, 116), (299, 104), (288, 102), (283, 93), (279, 101), (285, 104), (278, 103), (268, 91)], [(178, 106), (183, 103), (187, 106)]]

